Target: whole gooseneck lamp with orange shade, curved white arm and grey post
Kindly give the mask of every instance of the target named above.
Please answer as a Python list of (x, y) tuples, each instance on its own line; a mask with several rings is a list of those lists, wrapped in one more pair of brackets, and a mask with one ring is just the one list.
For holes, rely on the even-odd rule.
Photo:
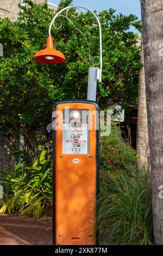
[[(101, 82), (101, 78), (102, 78), (102, 32), (101, 32), (101, 23), (99, 22), (98, 17), (96, 16), (95, 13), (93, 13), (90, 9), (80, 6), (80, 5), (72, 5), (72, 6), (68, 6), (65, 7), (63, 9), (61, 9), (60, 11), (58, 11), (57, 14), (55, 14), (55, 16), (53, 17), (51, 24), (49, 26), (49, 36), (47, 38), (47, 44), (46, 44), (46, 48), (38, 51), (35, 53), (34, 56), (34, 61), (36, 62), (41, 62), (41, 63), (64, 63), (66, 61), (65, 56), (63, 53), (61, 53), (60, 51), (54, 50), (53, 48), (53, 38), (51, 37), (51, 29), (52, 26), (54, 25), (54, 21), (55, 19), (57, 19), (58, 16), (62, 16), (62, 17), (66, 17), (66, 19), (80, 32), (82, 33), (83, 37), (86, 40), (86, 43), (89, 47), (89, 43), (87, 42), (87, 39), (85, 37), (85, 35), (83, 34), (82, 31), (80, 31), (73, 23), (72, 21), (68, 18), (68, 11), (71, 9), (85, 9), (87, 11), (90, 11), (90, 13), (96, 18), (98, 26), (99, 26), (99, 49), (100, 49), (100, 57), (99, 58), (99, 68), (97, 67), (90, 67), (89, 68), (89, 79), (88, 79), (88, 88), (87, 88), (87, 99), (89, 100), (94, 100), (96, 101), (96, 90), (97, 90), (97, 81)], [(67, 10), (66, 15), (61, 14), (63, 11)], [(62, 24), (61, 24), (62, 26)], [(59, 28), (61, 28), (61, 26)], [(55, 27), (56, 29), (59, 29), (57, 27)], [(95, 58), (93, 57), (93, 58)], [(91, 57), (90, 57), (90, 47), (89, 47), (89, 59), (91, 61)], [(91, 63), (93, 64), (93, 61), (91, 61)]]

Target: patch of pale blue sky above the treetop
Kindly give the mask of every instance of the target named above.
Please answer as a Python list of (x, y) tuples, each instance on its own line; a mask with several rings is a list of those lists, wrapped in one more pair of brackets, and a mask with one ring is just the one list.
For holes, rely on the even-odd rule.
[[(60, 0), (49, 0), (49, 2), (59, 4)], [(83, 5), (91, 10), (115, 9), (117, 13), (125, 15), (135, 14), (141, 19), (140, 0), (74, 0), (74, 5)]]

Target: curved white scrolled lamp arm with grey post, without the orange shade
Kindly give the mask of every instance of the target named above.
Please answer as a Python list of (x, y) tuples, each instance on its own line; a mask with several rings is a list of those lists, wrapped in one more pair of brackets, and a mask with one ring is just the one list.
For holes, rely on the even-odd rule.
[[(55, 16), (53, 17), (52, 21), (51, 21), (51, 24), (49, 26), (49, 37), (51, 37), (51, 28), (52, 28), (52, 25), (54, 25), (54, 21), (55, 19), (57, 19), (58, 16), (63, 16), (63, 17), (66, 17), (66, 19), (68, 21), (70, 21), (70, 23), (80, 32), (82, 33), (82, 35), (84, 36), (85, 38), (85, 35), (83, 34), (82, 31), (80, 31), (73, 23), (72, 21), (68, 18), (68, 11), (70, 9), (74, 9), (74, 8), (77, 8), (77, 9), (85, 9), (87, 11), (90, 11), (91, 14), (93, 14), (93, 16), (96, 18), (97, 20), (97, 23), (98, 23), (98, 26), (99, 26), (99, 50), (100, 50), (100, 57), (96, 56), (99, 58), (99, 68), (97, 67), (90, 67), (89, 68), (89, 78), (88, 78), (88, 86), (87, 86), (87, 99), (88, 100), (94, 100), (96, 101), (96, 90), (97, 90), (97, 81), (101, 82), (101, 77), (102, 77), (102, 32), (101, 32), (101, 23), (99, 22), (99, 19), (98, 17), (96, 16), (95, 13), (93, 13), (90, 9), (86, 8), (86, 7), (83, 7), (83, 6), (80, 6), (80, 5), (72, 5), (72, 6), (68, 6), (68, 7), (65, 7), (63, 9), (61, 9), (60, 11), (58, 11), (57, 14), (55, 14)], [(61, 13), (63, 11), (67, 10), (66, 12), (66, 15), (62, 15)], [(62, 26), (62, 25), (61, 25)], [(61, 26), (59, 28), (61, 28)], [(57, 27), (55, 27), (56, 29), (58, 29)], [(85, 38), (86, 39), (86, 38)], [(86, 42), (87, 42), (87, 39), (86, 39)], [(87, 42), (88, 44), (88, 42)], [(89, 44), (88, 44), (89, 46)], [(89, 53), (90, 53), (90, 48), (89, 48)], [(91, 58), (90, 58), (90, 61), (91, 61)]]

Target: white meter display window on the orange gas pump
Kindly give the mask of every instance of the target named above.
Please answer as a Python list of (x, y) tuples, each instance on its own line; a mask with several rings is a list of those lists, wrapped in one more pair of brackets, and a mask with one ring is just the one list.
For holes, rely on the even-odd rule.
[(89, 110), (63, 110), (62, 153), (89, 153)]

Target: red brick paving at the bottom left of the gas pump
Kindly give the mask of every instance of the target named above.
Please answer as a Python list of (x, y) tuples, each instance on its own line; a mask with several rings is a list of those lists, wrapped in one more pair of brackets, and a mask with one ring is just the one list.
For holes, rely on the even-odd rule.
[(0, 245), (52, 245), (52, 224), (29, 217), (0, 215)]

